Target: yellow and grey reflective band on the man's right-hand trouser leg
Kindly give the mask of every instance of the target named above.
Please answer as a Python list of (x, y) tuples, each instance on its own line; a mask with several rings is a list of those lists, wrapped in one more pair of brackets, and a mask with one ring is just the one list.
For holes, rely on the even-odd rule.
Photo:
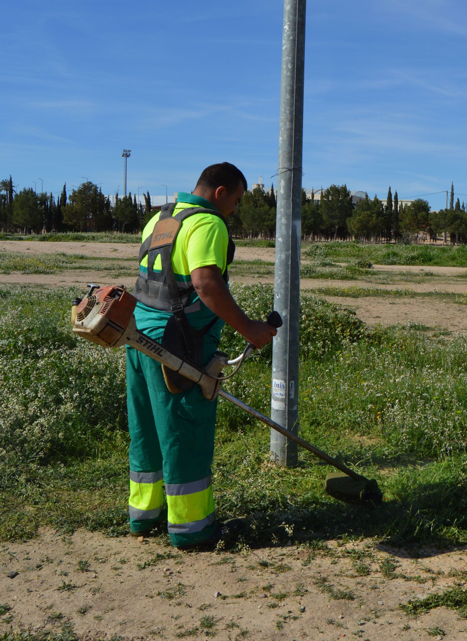
[(193, 483), (166, 483), (166, 495), (170, 534), (200, 533), (216, 520), (210, 476)]

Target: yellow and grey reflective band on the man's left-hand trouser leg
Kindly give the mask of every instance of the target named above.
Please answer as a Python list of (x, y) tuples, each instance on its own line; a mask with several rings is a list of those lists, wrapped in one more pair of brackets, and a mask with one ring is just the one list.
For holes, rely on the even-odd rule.
[(130, 519), (152, 520), (159, 517), (164, 504), (162, 470), (134, 472), (130, 470)]

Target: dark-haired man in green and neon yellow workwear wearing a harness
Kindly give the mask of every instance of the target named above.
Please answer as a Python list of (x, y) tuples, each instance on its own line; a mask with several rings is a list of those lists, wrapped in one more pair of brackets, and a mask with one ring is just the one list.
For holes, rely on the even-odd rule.
[[(246, 188), (235, 165), (210, 165), (193, 194), (179, 192), (175, 208), (162, 208), (143, 230), (132, 292), (138, 329), (202, 365), (216, 351), (224, 322), (258, 349), (276, 335), (265, 322), (249, 319), (228, 290), (233, 242), (225, 219)], [(188, 549), (216, 544), (223, 528), (210, 476), (217, 400), (207, 401), (198, 385), (184, 381), (127, 348), (131, 532), (147, 535), (161, 520), (164, 481), (171, 542)], [(230, 533), (238, 528), (233, 522)]]

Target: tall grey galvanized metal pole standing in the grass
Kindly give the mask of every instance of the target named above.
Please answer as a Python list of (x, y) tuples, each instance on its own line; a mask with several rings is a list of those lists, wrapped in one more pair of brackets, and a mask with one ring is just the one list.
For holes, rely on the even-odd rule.
[[(284, 0), (274, 309), (282, 319), (273, 345), (271, 415), (298, 432), (301, 178), (306, 0)], [(271, 459), (297, 465), (297, 445), (271, 430)]]

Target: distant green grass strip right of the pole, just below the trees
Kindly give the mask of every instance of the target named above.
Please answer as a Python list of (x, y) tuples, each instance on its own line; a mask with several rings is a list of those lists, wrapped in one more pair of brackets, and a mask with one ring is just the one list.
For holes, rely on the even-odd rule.
[(467, 267), (467, 246), (361, 244), (320, 242), (303, 246), (303, 256), (315, 262), (368, 262), (374, 265), (438, 265)]

